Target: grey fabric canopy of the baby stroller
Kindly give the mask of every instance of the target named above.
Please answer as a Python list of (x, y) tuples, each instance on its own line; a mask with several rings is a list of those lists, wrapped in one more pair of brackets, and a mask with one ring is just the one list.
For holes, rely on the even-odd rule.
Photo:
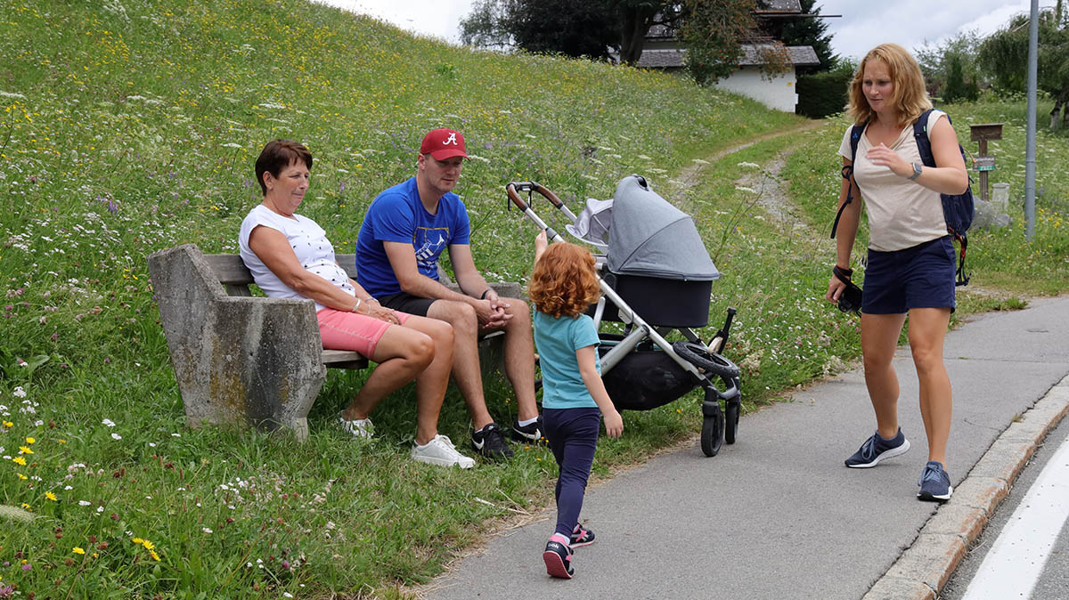
[(630, 175), (616, 187), (608, 269), (617, 274), (683, 281), (721, 277), (688, 215)]

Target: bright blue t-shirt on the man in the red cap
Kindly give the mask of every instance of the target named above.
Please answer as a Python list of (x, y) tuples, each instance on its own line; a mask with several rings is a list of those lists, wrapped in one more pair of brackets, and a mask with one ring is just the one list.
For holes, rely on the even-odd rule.
[(438, 281), (438, 256), (451, 244), (468, 244), (471, 227), (461, 196), (448, 192), (431, 215), (419, 200), (416, 177), (378, 194), (356, 238), (356, 282), (381, 298), (401, 291), (384, 241), (410, 243), (419, 272)]

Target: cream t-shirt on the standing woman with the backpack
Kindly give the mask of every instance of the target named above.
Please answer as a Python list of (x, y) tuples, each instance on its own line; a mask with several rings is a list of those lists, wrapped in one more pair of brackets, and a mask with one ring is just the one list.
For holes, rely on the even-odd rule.
[[(928, 131), (945, 112), (933, 110), (928, 115)], [(842, 137), (839, 154), (850, 159), (850, 130)], [(872, 147), (864, 132), (857, 143), (854, 159), (854, 180), (865, 199), (869, 220), (869, 249), (892, 252), (913, 248), (946, 235), (943, 203), (940, 194), (916, 181), (896, 175), (889, 168), (873, 164), (868, 158)], [(907, 162), (920, 164), (920, 151), (913, 138), (913, 124), (907, 125), (890, 145)]]

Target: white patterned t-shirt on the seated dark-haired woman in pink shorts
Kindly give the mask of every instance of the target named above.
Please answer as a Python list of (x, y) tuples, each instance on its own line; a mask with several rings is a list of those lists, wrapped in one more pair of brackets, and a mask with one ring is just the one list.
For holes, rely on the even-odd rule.
[[(263, 264), (263, 260), (249, 249), (249, 236), (252, 230), (263, 225), (281, 232), (293, 248), (293, 253), (297, 255), (297, 260), (306, 270), (320, 275), (321, 278), (335, 284), (338, 288), (350, 296), (356, 296), (356, 289), (348, 282), (348, 274), (335, 262), (334, 247), (327, 239), (326, 232), (319, 226), (315, 221), (294, 215), (292, 218), (283, 217), (273, 211), (263, 204), (258, 204), (249, 210), (249, 214), (242, 221), (242, 231), (238, 234), (238, 247), (241, 248), (242, 260), (252, 273), (252, 280), (257, 282), (260, 289), (270, 298), (304, 298), (292, 287), (282, 283), (282, 280)], [(323, 304), (315, 303), (315, 310), (324, 309)]]

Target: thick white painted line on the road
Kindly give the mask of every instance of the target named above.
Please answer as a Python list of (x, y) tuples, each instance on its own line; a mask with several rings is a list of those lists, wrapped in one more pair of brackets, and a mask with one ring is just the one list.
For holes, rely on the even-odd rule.
[(1069, 518), (1069, 439), (1062, 442), (983, 558), (962, 600), (1031, 598)]

